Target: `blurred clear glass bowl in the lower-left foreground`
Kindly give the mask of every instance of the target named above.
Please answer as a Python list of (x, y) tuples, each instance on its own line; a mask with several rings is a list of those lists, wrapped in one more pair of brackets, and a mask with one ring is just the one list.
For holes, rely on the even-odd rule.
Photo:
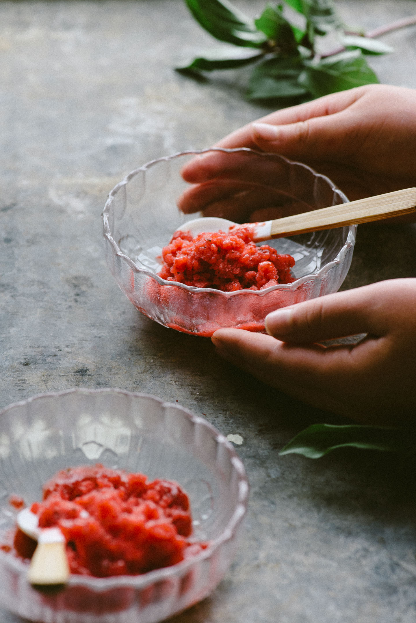
[(45, 623), (153, 623), (203, 599), (227, 571), (247, 507), (243, 464), (201, 417), (154, 396), (118, 389), (43, 394), (0, 412), (0, 541), (16, 522), (11, 494), (27, 505), (57, 470), (100, 462), (149, 478), (169, 478), (191, 500), (194, 538), (209, 547), (139, 576), (72, 575), (47, 596), (27, 582), (27, 565), (0, 551), (0, 603)]

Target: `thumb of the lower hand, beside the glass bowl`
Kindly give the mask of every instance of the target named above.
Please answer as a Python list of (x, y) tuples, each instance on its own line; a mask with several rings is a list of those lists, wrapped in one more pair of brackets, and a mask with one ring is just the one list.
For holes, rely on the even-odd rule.
[(391, 293), (385, 283), (376, 283), (347, 290), (310, 301), (284, 307), (266, 316), (267, 333), (281, 341), (306, 344), (356, 333), (385, 335), (389, 318), (384, 313), (391, 308)]

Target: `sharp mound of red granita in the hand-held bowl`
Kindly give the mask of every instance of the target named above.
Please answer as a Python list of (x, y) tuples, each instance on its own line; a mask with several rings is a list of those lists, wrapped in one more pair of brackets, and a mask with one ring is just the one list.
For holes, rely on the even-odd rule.
[(192, 237), (177, 231), (162, 251), (159, 277), (224, 292), (264, 290), (295, 281), (291, 255), (279, 255), (268, 244), (257, 247), (252, 227), (235, 227), (228, 233), (204, 232)]

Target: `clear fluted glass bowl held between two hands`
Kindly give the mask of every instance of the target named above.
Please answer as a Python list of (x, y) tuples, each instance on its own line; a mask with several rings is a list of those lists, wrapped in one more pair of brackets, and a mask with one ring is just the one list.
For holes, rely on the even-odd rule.
[(305, 164), (247, 148), (186, 151), (153, 160), (113, 188), (103, 211), (106, 260), (126, 297), (161, 325), (209, 337), (221, 327), (262, 331), (269, 312), (336, 292), (351, 265), (356, 226), (269, 241), (278, 252), (295, 257), (296, 281), (286, 285), (222, 292), (158, 276), (162, 247), (184, 222), (201, 216), (182, 214), (176, 206), (189, 187), (181, 169), (196, 155), (214, 151), (222, 153), (225, 178), (238, 178), (232, 182), (235, 196), (239, 188), (241, 194), (258, 188), (272, 205), (296, 204), (298, 212), (348, 201), (328, 178)]

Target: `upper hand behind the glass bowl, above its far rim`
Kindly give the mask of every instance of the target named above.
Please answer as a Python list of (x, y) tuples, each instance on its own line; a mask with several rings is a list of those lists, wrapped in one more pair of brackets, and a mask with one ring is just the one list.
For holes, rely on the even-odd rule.
[[(278, 110), (215, 146), (249, 147), (300, 160), (332, 179), (351, 201), (409, 188), (416, 186), (416, 90), (366, 85), (332, 93)], [(194, 158), (182, 175), (192, 184), (206, 182), (207, 175), (218, 179), (224, 177), (224, 161), (220, 154)], [(184, 212), (199, 209), (197, 202), (179, 206)], [(290, 207), (286, 213), (293, 212)], [(209, 214), (214, 213), (215, 207)]]

